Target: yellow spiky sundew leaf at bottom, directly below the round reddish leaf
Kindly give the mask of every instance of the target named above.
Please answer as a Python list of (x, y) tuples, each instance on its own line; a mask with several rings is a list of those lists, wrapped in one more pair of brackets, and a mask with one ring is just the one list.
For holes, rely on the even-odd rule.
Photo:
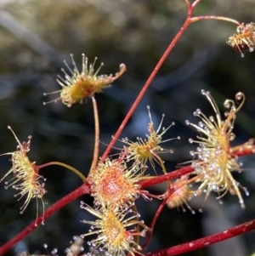
[[(135, 207), (133, 212), (133, 205), (120, 210), (115, 208), (114, 204), (110, 204), (95, 210), (84, 202), (81, 203), (81, 208), (98, 218), (95, 221), (82, 221), (90, 225), (90, 230), (88, 230), (88, 233), (83, 234), (82, 238), (94, 234), (97, 235), (96, 239), (88, 243), (89, 246), (94, 248), (93, 252), (99, 249), (99, 251), (105, 251), (105, 254), (110, 255), (126, 255), (126, 253), (134, 255), (134, 253), (139, 253), (142, 250), (138, 243), (139, 239), (136, 239), (136, 237), (145, 236), (149, 228), (144, 225), (143, 221), (139, 220), (139, 214)], [(130, 214), (132, 215), (128, 216)], [(135, 228), (135, 225), (141, 226), (142, 230)], [(143, 255), (142, 253), (139, 254)]]

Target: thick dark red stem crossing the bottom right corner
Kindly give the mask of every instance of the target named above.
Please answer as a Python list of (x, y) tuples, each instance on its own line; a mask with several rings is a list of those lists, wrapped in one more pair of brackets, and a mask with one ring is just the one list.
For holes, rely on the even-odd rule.
[(202, 247), (207, 247), (212, 243), (221, 242), (229, 238), (232, 238), (234, 236), (239, 236), (251, 230), (255, 230), (255, 219), (247, 221), (241, 225), (237, 225), (234, 228), (231, 228), (229, 230), (224, 230), (223, 232), (214, 234), (212, 236), (206, 236), (191, 242), (185, 242), (177, 246), (169, 247), (167, 249), (159, 250), (156, 252), (146, 253), (145, 255), (146, 256), (173, 256), (181, 253), (187, 253)]

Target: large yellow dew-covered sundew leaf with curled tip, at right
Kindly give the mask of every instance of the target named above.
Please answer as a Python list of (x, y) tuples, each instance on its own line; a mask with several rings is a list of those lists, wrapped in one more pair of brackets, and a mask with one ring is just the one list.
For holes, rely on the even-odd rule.
[(211, 191), (217, 192), (217, 199), (222, 202), (222, 197), (229, 191), (231, 195), (238, 196), (241, 208), (245, 208), (239, 188), (245, 191), (246, 196), (249, 196), (249, 192), (231, 174), (233, 171), (240, 172), (241, 164), (230, 146), (230, 142), (235, 139), (232, 131), (236, 114), (244, 104), (245, 95), (242, 93), (235, 95), (235, 100), (240, 101), (238, 107), (235, 106), (234, 100), (225, 100), (224, 106), (229, 108), (229, 111), (224, 113), (226, 119), (223, 120), (210, 92), (201, 90), (201, 94), (205, 95), (211, 103), (215, 117), (206, 117), (200, 109), (197, 109), (194, 116), (199, 117), (201, 121), (196, 125), (186, 120), (187, 125), (192, 126), (201, 134), (197, 136), (197, 139), (189, 139), (191, 144), (199, 145), (196, 151), (190, 152), (190, 155), (195, 158), (191, 163), (195, 169), (193, 174), (197, 177), (195, 182), (201, 182), (197, 192), (201, 194), (204, 191), (206, 199)]

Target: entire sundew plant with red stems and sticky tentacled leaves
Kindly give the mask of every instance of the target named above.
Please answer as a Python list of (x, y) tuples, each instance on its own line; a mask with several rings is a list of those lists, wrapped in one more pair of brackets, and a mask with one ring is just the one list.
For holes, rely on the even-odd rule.
[[(88, 242), (88, 245), (91, 247), (90, 252), (84, 254), (88, 256), (92, 256), (98, 252), (109, 256), (127, 254), (145, 254), (150, 256), (178, 255), (201, 247), (207, 247), (212, 243), (224, 241), (250, 230), (255, 230), (255, 219), (252, 219), (212, 236), (206, 236), (175, 247), (162, 248), (156, 252), (143, 252), (144, 247), (150, 242), (150, 237), (153, 236), (156, 219), (160, 218), (161, 210), (166, 205), (169, 208), (184, 209), (186, 207), (190, 209), (191, 213), (194, 213), (189, 205), (189, 200), (192, 196), (201, 196), (202, 192), (205, 192), (206, 200), (211, 192), (216, 192), (218, 194), (217, 199), (221, 201), (222, 197), (229, 192), (237, 196), (241, 208), (245, 208), (245, 202), (241, 196), (240, 188), (245, 191), (246, 194), (248, 194), (248, 192), (246, 188), (241, 187), (239, 182), (233, 178), (232, 172), (242, 170), (238, 162), (239, 157), (255, 153), (254, 140), (251, 139), (242, 145), (235, 145), (235, 147), (230, 145), (230, 142), (235, 139), (235, 135), (232, 131), (235, 125), (236, 114), (244, 104), (244, 94), (238, 93), (236, 94), (235, 100), (225, 101), (225, 106), (229, 108), (229, 111), (223, 118), (212, 95), (202, 90), (201, 93), (212, 105), (215, 117), (207, 117), (201, 110), (196, 110), (194, 115), (200, 118), (201, 121), (197, 125), (193, 122), (186, 121), (187, 125), (191, 128), (195, 128), (200, 134), (196, 139), (190, 139), (190, 143), (197, 144), (198, 147), (196, 151), (191, 152), (193, 159), (190, 160), (190, 163), (187, 162), (187, 166), (173, 171), (168, 171), (165, 168), (160, 154), (161, 151), (165, 150), (161, 148), (160, 144), (164, 141), (171, 140), (167, 138), (168, 133), (170, 134), (171, 130), (169, 128), (171, 126), (166, 129), (162, 128), (161, 124), (163, 120), (161, 120), (159, 128), (155, 130), (150, 117), (150, 111), (150, 122), (148, 125), (149, 134), (147, 135), (147, 139), (138, 139), (137, 142), (124, 139), (123, 149), (119, 156), (116, 158), (109, 156), (111, 148), (122, 134), (123, 128), (125, 128), (129, 118), (132, 117), (133, 111), (135, 111), (136, 107), (139, 105), (140, 100), (149, 88), (157, 71), (161, 68), (161, 65), (167, 59), (173, 47), (178, 43), (179, 38), (191, 23), (201, 20), (218, 20), (233, 23), (237, 26), (237, 34), (235, 33), (233, 36), (229, 37), (227, 41), (229, 46), (240, 51), (242, 57), (244, 56), (242, 51), (246, 49), (249, 49), (250, 52), (253, 51), (255, 46), (254, 23), (244, 25), (237, 20), (215, 15), (193, 16), (195, 7), (201, 3), (201, 1), (202, 0), (195, 0), (191, 2), (184, 0), (188, 8), (184, 25), (179, 29), (164, 54), (162, 54), (155, 69), (151, 72), (150, 77), (144, 83), (144, 87), (141, 88), (139, 95), (127, 112), (127, 116), (117, 129), (116, 134), (112, 137), (104, 154), (100, 157), (99, 113), (95, 97), (103, 88), (108, 88), (116, 78), (121, 77), (124, 71), (126, 71), (126, 66), (123, 64), (120, 65), (120, 71), (116, 73), (115, 77), (112, 75), (99, 75), (102, 65), (94, 71), (95, 61), (93, 64), (88, 65), (88, 59), (83, 54), (82, 71), (79, 71), (71, 55), (74, 67), (71, 69), (71, 67), (66, 64), (68, 71), (63, 70), (65, 77), (59, 77), (57, 80), (62, 88), (52, 93), (59, 94), (59, 97), (53, 101), (61, 100), (64, 105), (71, 107), (71, 105), (75, 103), (82, 103), (85, 100), (91, 99), (94, 107), (95, 127), (94, 153), (91, 167), (86, 174), (87, 177), (85, 177), (77, 169), (62, 162), (48, 162), (37, 166), (35, 162), (30, 162), (27, 156), (27, 152), (30, 150), (31, 137), (29, 137), (28, 142), (22, 145), (19, 139), (14, 135), (19, 145), (17, 151), (7, 153), (12, 156), (13, 167), (7, 174), (3, 175), (3, 179), (8, 175), (13, 175), (13, 178), (9, 181), (10, 183), (6, 184), (6, 186), (13, 186), (14, 189), (19, 190), (18, 195), (21, 195), (21, 197), (28, 193), (29, 196), (26, 197), (25, 204), (21, 208), (22, 211), (26, 209), (31, 198), (36, 197), (37, 199), (42, 199), (42, 196), (46, 193), (44, 190), (45, 180), (38, 174), (41, 168), (46, 168), (54, 164), (63, 166), (77, 174), (82, 179), (83, 183), (75, 191), (72, 191), (69, 195), (55, 202), (45, 212), (44, 201), (42, 200), (43, 213), (38, 216), (37, 210), (37, 219), (0, 247), (1, 255), (6, 253), (15, 243), (29, 235), (32, 230), (35, 230), (37, 225), (43, 224), (44, 220), (48, 219), (52, 213), (55, 213), (67, 203), (85, 194), (90, 194), (90, 196), (94, 197), (94, 205), (91, 207), (88, 206), (86, 202), (81, 202), (81, 208), (93, 214), (96, 218), (94, 221), (81, 219), (84, 224), (90, 225), (90, 229), (84, 227), (85, 231), (81, 236), (84, 238), (94, 236)], [(239, 102), (239, 105), (236, 105), (235, 101)], [(52, 101), (48, 103), (50, 102)], [(163, 135), (164, 139), (162, 139)], [(171, 136), (169, 136), (169, 138), (171, 138)], [(148, 176), (145, 174), (148, 162), (156, 170), (156, 176)], [(154, 162), (156, 162), (156, 164)], [(158, 168), (161, 168), (164, 174), (159, 175), (157, 171)], [(1, 181), (3, 179), (1, 179)], [(43, 182), (40, 183), (38, 180), (41, 179)], [(164, 182), (167, 183), (167, 191), (163, 196), (151, 195), (144, 191), (145, 188), (151, 185)], [(191, 184), (195, 184), (194, 189), (190, 188)], [(41, 194), (33, 190), (35, 185), (40, 187)], [(144, 199), (148, 201), (147, 203), (150, 203), (151, 197), (156, 197), (161, 200), (161, 205), (156, 210), (155, 217), (150, 225), (144, 224), (139, 214), (139, 205), (136, 200), (139, 196), (143, 196)], [(145, 237), (146, 240), (144, 244), (140, 243), (140, 236)]]

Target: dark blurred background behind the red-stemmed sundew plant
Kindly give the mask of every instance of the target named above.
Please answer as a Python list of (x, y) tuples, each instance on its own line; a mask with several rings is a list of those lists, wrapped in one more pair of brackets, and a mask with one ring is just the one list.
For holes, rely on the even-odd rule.
[[(202, 0), (195, 15), (223, 15), (255, 22), (253, 0)], [(105, 66), (101, 73), (110, 74), (125, 63), (127, 71), (113, 83), (111, 89), (97, 95), (100, 117), (100, 154), (111, 141), (111, 135), (125, 117), (133, 100), (139, 93), (156, 62), (171, 42), (186, 17), (187, 7), (180, 0), (1, 0), (0, 1), (0, 152), (12, 152), (17, 142), (7, 126), (10, 125), (20, 141), (32, 135), (31, 161), (65, 162), (83, 174), (88, 168), (94, 150), (94, 115), (91, 101), (82, 105), (51, 103), (58, 94), (44, 97), (43, 93), (59, 90), (55, 81), (63, 60), (71, 64), (74, 54), (77, 65), (82, 64), (82, 53), (91, 62), (98, 56), (97, 65)], [(201, 95), (201, 89), (209, 90), (224, 113), (224, 100), (234, 99), (239, 91), (246, 94), (246, 103), (237, 115), (233, 145), (245, 143), (255, 136), (255, 53), (244, 52), (241, 58), (225, 43), (236, 31), (236, 26), (223, 21), (201, 21), (192, 24), (173, 48), (156, 78), (151, 83), (144, 99), (134, 112), (121, 138), (135, 140), (144, 137), (147, 131), (147, 105), (155, 128), (164, 113), (163, 125), (176, 125), (167, 131), (164, 139), (181, 136), (180, 140), (166, 142), (163, 147), (173, 149), (173, 154), (164, 154), (167, 170), (174, 170), (178, 163), (190, 160), (190, 151), (195, 145), (188, 143), (195, 132), (185, 126), (185, 120), (198, 122), (193, 117), (196, 108), (207, 115), (213, 114), (212, 106)], [(104, 145), (105, 144), (105, 145)], [(122, 147), (118, 143), (116, 147)], [(115, 154), (117, 150), (112, 150)], [(11, 168), (10, 156), (1, 156), (0, 175)], [(170, 247), (207, 236), (255, 218), (255, 158), (241, 158), (246, 171), (236, 174), (235, 179), (251, 192), (245, 196), (246, 210), (241, 210), (237, 196), (224, 196), (224, 205), (219, 205), (215, 196), (205, 203), (203, 213), (197, 210), (200, 202), (190, 202), (196, 213), (188, 210), (164, 208), (155, 227), (154, 235), (144, 252)], [(158, 171), (160, 174), (160, 171)], [(151, 174), (154, 174), (151, 171)], [(81, 180), (71, 172), (59, 167), (42, 169), (47, 178), (48, 206), (81, 185)], [(6, 179), (8, 180), (8, 179)], [(30, 224), (36, 217), (36, 203), (32, 200), (26, 212), (20, 215), (22, 199), (16, 202), (15, 191), (0, 187), (0, 243), (3, 244)], [(162, 185), (151, 192), (160, 194)], [(91, 216), (79, 208), (80, 201), (92, 203), (89, 196), (54, 213), (44, 226), (34, 230), (6, 255), (20, 251), (47, 254), (59, 249), (65, 255), (72, 236), (88, 231), (88, 225), (80, 223)], [(138, 209), (145, 224), (150, 225), (160, 202), (144, 202), (139, 199)], [(166, 236), (167, 232), (167, 236)], [(255, 252), (255, 232), (220, 242), (216, 245), (186, 253), (185, 255), (246, 256)], [(87, 247), (85, 247), (87, 250)]]

